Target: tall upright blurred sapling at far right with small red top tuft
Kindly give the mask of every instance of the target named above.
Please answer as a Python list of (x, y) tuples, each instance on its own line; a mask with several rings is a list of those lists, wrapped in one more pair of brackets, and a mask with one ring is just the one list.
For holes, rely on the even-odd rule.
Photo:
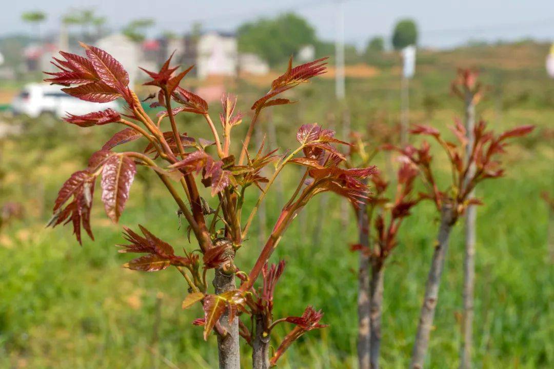
[[(459, 69), (457, 78), (452, 82), (452, 92), (464, 102), (464, 126), (467, 138), (465, 155), (471, 155), (474, 145), (473, 131), (475, 129), (475, 106), (483, 96), (481, 85), (477, 81), (478, 73), (471, 69)], [(475, 173), (475, 165), (471, 165), (468, 176)], [(474, 191), (468, 195), (474, 197)], [(460, 369), (471, 368), (471, 349), (473, 347), (473, 306), (475, 289), (475, 220), (477, 209), (468, 205), (465, 210), (465, 249), (464, 249), (464, 313), (461, 321)]]

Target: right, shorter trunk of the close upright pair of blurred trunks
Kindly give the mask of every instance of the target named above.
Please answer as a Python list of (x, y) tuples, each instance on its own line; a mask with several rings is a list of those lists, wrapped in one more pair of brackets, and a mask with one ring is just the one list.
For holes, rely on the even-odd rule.
[(379, 368), (381, 349), (381, 313), (383, 311), (384, 266), (376, 262), (371, 268), (371, 369)]

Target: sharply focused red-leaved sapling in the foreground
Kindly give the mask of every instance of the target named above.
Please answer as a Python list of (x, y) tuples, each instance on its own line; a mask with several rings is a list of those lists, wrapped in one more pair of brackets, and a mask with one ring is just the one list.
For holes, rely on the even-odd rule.
[[(283, 272), (284, 264), (268, 267), (271, 253), (297, 212), (314, 195), (334, 191), (352, 202), (360, 202), (367, 191), (360, 180), (373, 172), (373, 168), (338, 168), (344, 157), (334, 145), (346, 143), (334, 138), (334, 132), (322, 129), (317, 124), (300, 127), (297, 133), (299, 146), (286, 156), (279, 157), (275, 155), (275, 151), (264, 154), (263, 145), (254, 156), (248, 153), (248, 142), (260, 112), (266, 107), (290, 103), (290, 100), (277, 96), (324, 73), (324, 59), (294, 68), (292, 59), (290, 60), (285, 74), (273, 81), (269, 92), (252, 106), (253, 119), (247, 135), (241, 140), (242, 145), (237, 145), (241, 154), (239, 160), (235, 160), (232, 154), (232, 129), (242, 121), (242, 115), (234, 112), (235, 97), (222, 97), (223, 112), (219, 118), (223, 134), (220, 136), (209, 116), (206, 101), (179, 86), (192, 67), (177, 74), (177, 67), (170, 67), (170, 57), (160, 71), (146, 71), (152, 78), (146, 85), (159, 89), (157, 102), (152, 106), (163, 107), (155, 122), (146, 114), (139, 98), (130, 89), (129, 75), (121, 64), (103, 50), (85, 44), (81, 46), (85, 49), (86, 57), (61, 51), (64, 60), (54, 58), (53, 62), (60, 71), (48, 73), (52, 77), (46, 81), (66, 86), (64, 92), (86, 101), (108, 102), (121, 98), (126, 102), (126, 114), (121, 115), (107, 109), (83, 116), (69, 114), (65, 121), (81, 127), (118, 123), (126, 128), (116, 133), (91, 156), (87, 168), (76, 171), (64, 183), (55, 200), (54, 216), (49, 225), (71, 223), (79, 243), (81, 227), (93, 238), (90, 209), (96, 179), (101, 175), (101, 200), (107, 216), (117, 222), (129, 198), (136, 165), (152, 169), (175, 200), (179, 214), (187, 220), (189, 232), (192, 232), (198, 242), (198, 246), (192, 248), (199, 248), (199, 252), (186, 251), (183, 248), (183, 255), (178, 255), (172, 246), (145, 227), (139, 225), (143, 236), (124, 227), (128, 244), (122, 245), (121, 252), (144, 254), (126, 263), (125, 267), (151, 272), (172, 266), (182, 274), (189, 286), (183, 308), (195, 303), (202, 304), (204, 318), (193, 323), (204, 326), (204, 339), (208, 338), (212, 330), (216, 332), (220, 368), (240, 367), (239, 335), (253, 346), (254, 368), (274, 365), (294, 340), (304, 332), (323, 325), (319, 324), (322, 313), (311, 306), (306, 308), (302, 316), (273, 321), (273, 289)], [(213, 142), (189, 137), (178, 129), (175, 116), (185, 112), (201, 115), (206, 120)], [(171, 127), (166, 132), (162, 129), (165, 118), (168, 118)], [(148, 141), (143, 152), (113, 150), (137, 139)], [(209, 153), (212, 147), (216, 151), (214, 155)], [(275, 163), (275, 171), (267, 179), (260, 175), (260, 171), (270, 163)], [(281, 211), (254, 267), (247, 274), (235, 266), (235, 252), (243, 246), (258, 206), (287, 164), (304, 165), (308, 169)], [(308, 176), (310, 180), (306, 180)], [(208, 204), (201, 197), (198, 181), (210, 189), (213, 204)], [(262, 187), (264, 183), (265, 187)], [(182, 191), (176, 186), (181, 186)], [(254, 187), (259, 188), (261, 194), (243, 225), (241, 215), (245, 191)], [(183, 194), (186, 198), (183, 198)], [(209, 216), (212, 217), (211, 220)], [(259, 248), (251, 250), (257, 253)], [(209, 292), (207, 281), (210, 269), (214, 269), (213, 293)], [(263, 288), (257, 290), (254, 283), (260, 273), (264, 276)], [(240, 288), (236, 287), (235, 276), (242, 279)], [(240, 321), (237, 317), (240, 314), (249, 315), (255, 322), (252, 330)], [(285, 321), (295, 327), (285, 337), (274, 356), (269, 358), (271, 329)]]

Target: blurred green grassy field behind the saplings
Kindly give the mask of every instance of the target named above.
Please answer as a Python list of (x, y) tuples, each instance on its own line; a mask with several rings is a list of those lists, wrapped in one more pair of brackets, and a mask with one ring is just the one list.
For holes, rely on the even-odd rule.
[[(449, 94), (456, 67), (479, 66), (490, 86), (479, 115), (490, 127), (537, 125), (530, 137), (510, 147), (505, 178), (485, 182), (477, 191), (485, 206), (478, 210), (476, 368), (554, 367), (554, 245), (551, 238), (548, 246), (548, 207), (540, 196), (542, 191), (554, 190), (554, 81), (543, 71), (546, 50), (546, 45), (522, 44), (425, 52), (419, 56), (411, 84), (411, 122), (444, 131), (461, 112), (460, 103)], [(377, 121), (398, 122), (398, 79), (397, 67), (383, 67), (371, 79), (347, 80), (353, 129), (363, 131)], [(242, 111), (248, 110), (255, 93), (266, 90), (239, 87), (245, 91), (237, 91)], [(339, 106), (333, 93), (332, 80), (316, 81), (295, 92), (299, 103), (265, 113), (263, 121), (274, 122), (281, 152), (293, 147), (296, 128), (302, 123), (338, 127)], [(212, 103), (213, 117), (217, 105)], [(0, 233), (0, 367), (215, 367), (215, 337), (206, 344), (202, 329), (191, 325), (201, 309), (181, 309), (187, 293), (181, 276), (173, 269), (141, 273), (121, 267), (129, 259), (115, 247), (123, 242), (121, 225), (146, 225), (177, 250), (197, 247), (188, 243), (186, 227), (178, 229), (177, 208), (151, 173), (139, 168), (119, 226), (106, 219), (100, 199), (95, 199), (95, 242), (87, 238), (79, 247), (68, 227), (44, 228), (61, 183), (84, 167), (88, 156), (118, 127), (79, 128), (48, 117), (6, 119), (23, 124), (24, 130), (1, 141), (0, 202), (21, 202), (25, 216)], [(191, 136), (201, 133), (208, 138), (205, 123), (197, 118), (183, 118), (179, 124)], [(337, 136), (345, 136), (340, 128)], [(436, 159), (439, 177), (447, 175), (447, 162), (440, 154)], [(384, 171), (389, 165), (382, 154), (375, 163)], [(267, 228), (273, 226), (283, 196), (288, 199), (299, 175), (296, 168), (288, 169), (268, 196)], [(250, 206), (255, 195), (250, 192)], [(340, 199), (323, 196), (294, 221), (272, 257), (288, 262), (275, 292), (275, 316), (300, 315), (306, 305), (314, 305), (325, 312), (322, 323), (330, 326), (306, 334), (291, 346), (280, 368), (356, 367), (357, 254), (348, 251), (348, 245), (356, 242), (356, 227), (352, 214), (342, 219)], [(437, 226), (433, 205), (418, 205), (388, 259), (383, 368), (408, 364)], [(240, 249), (237, 264), (243, 270), (252, 266), (261, 248), (255, 237), (258, 229), (255, 222), (252, 238)], [(461, 225), (456, 226), (448, 254), (429, 368), (458, 367), (461, 231)], [(274, 330), (275, 347), (288, 328), (281, 325)], [(246, 345), (243, 360), (244, 365), (250, 361)]]

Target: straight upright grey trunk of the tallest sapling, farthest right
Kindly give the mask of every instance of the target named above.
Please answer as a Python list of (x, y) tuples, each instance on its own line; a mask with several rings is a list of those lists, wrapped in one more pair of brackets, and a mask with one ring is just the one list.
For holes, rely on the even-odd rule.
[[(465, 97), (465, 129), (468, 138), (466, 146), (466, 157), (469, 158), (475, 137), (473, 129), (475, 127), (475, 104), (473, 103), (473, 93), (466, 93)], [(468, 179), (475, 173), (475, 167), (472, 165), (468, 171)], [(467, 179), (466, 179), (467, 183)], [(470, 194), (473, 198), (474, 193)], [(461, 349), (460, 349), (460, 369), (469, 369), (471, 367), (471, 349), (473, 347), (473, 314), (474, 314), (474, 289), (475, 289), (475, 206), (468, 206), (465, 215), (465, 250), (464, 250), (464, 313), (461, 321)]]

